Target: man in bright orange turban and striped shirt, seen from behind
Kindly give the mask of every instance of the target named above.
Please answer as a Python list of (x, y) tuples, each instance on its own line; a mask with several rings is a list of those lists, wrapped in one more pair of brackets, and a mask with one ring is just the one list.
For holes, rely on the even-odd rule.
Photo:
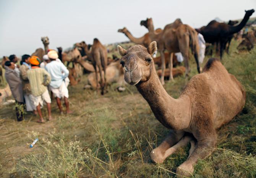
[(43, 123), (44, 119), (42, 117), (41, 106), (43, 106), (44, 101), (47, 105), (49, 120), (52, 120), (51, 98), (46, 87), (49, 85), (51, 77), (45, 69), (39, 67), (40, 59), (37, 56), (32, 56), (29, 59), (29, 63), (31, 64), (31, 69), (27, 71), (27, 74), (31, 86), (31, 99), (40, 117), (37, 122)]

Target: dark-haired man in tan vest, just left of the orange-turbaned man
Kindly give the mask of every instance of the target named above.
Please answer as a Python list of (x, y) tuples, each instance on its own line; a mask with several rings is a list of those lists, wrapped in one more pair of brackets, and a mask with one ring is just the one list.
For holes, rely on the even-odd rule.
[(31, 68), (29, 66), (29, 59), (30, 56), (29, 55), (23, 55), (22, 59), (21, 59), (21, 66), (19, 67), (19, 73), (21, 75), (21, 79), (22, 79), (22, 84), (23, 84), (23, 94), (24, 94), (24, 98), (25, 98), (25, 103), (26, 103), (26, 109), (27, 111), (34, 111), (34, 114), (36, 114), (36, 106), (34, 106), (34, 104), (32, 103), (32, 94), (31, 94), (31, 87), (29, 84), (29, 80), (28, 80), (28, 75), (27, 75), (27, 71)]

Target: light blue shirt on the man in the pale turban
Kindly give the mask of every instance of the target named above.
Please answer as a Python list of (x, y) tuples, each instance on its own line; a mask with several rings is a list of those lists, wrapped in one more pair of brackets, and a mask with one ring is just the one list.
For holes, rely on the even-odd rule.
[(68, 77), (69, 71), (63, 63), (51, 61), (46, 64), (45, 70), (51, 75), (50, 86), (58, 88), (62, 85), (63, 80)]

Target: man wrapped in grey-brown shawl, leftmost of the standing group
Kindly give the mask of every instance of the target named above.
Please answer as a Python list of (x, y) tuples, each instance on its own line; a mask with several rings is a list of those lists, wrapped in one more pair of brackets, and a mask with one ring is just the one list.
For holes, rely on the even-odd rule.
[(11, 94), (15, 98), (16, 104), (19, 104), (21, 108), (15, 107), (16, 109), (16, 117), (18, 121), (23, 120), (23, 107), (24, 107), (24, 99), (23, 99), (23, 90), (22, 90), (22, 82), (19, 77), (19, 74), (14, 71), (15, 64), (11, 61), (5, 62), (5, 79), (9, 84), (11, 89)]

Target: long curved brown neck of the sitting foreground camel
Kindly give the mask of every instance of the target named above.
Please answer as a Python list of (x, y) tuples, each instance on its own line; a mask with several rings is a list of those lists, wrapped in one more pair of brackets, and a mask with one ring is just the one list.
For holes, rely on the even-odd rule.
[(172, 98), (162, 86), (159, 77), (156, 73), (156, 69), (152, 67), (151, 70), (152, 71), (150, 79), (146, 82), (141, 82), (136, 85), (139, 93), (141, 93), (143, 98), (146, 99), (155, 117), (165, 127), (172, 129), (188, 127), (187, 125), (185, 126), (181, 122), (179, 122), (181, 118), (188, 118), (188, 113), (190, 110), (188, 98)]

